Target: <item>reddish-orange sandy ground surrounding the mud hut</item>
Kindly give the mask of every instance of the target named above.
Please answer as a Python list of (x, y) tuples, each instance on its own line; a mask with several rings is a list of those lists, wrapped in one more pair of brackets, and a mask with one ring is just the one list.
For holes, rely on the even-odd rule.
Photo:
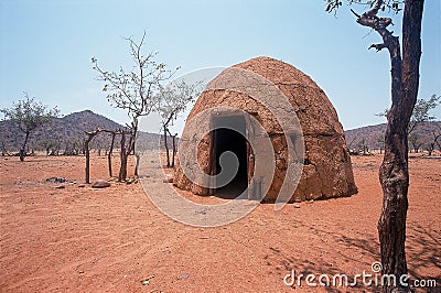
[[(217, 228), (170, 219), (139, 183), (80, 187), (84, 158), (18, 160), (0, 158), (0, 292), (376, 291), (311, 287), (304, 279), (287, 286), (283, 276), (292, 269), (297, 275), (372, 273), (379, 261), (379, 155), (352, 159), (359, 189), (353, 197), (279, 211), (261, 204)], [(92, 178), (107, 178), (106, 162), (94, 158)], [(441, 160), (410, 159), (408, 267), (415, 279), (438, 279), (437, 289), (417, 292), (441, 292), (440, 166)], [(45, 183), (52, 176), (76, 184), (55, 188)]]

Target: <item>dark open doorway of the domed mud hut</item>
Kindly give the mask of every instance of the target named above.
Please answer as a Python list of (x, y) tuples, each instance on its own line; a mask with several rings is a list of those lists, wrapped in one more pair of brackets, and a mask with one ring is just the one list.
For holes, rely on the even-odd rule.
[(216, 160), (215, 174), (220, 173), (219, 158), (226, 151), (236, 154), (239, 169), (230, 183), (214, 193), (222, 198), (236, 198), (248, 185), (248, 154), (247, 140), (245, 138), (246, 122), (244, 116), (224, 116), (213, 118), (215, 130), (213, 131), (212, 160)]

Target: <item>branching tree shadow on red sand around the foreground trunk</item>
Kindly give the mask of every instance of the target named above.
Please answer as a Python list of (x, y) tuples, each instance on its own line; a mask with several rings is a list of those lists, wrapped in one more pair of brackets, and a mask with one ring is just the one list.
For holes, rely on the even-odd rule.
[[(297, 225), (302, 227), (308, 227), (309, 231), (313, 235), (323, 236), (323, 239), (338, 239), (335, 245), (338, 247), (334, 247), (332, 253), (335, 254), (335, 258), (344, 262), (356, 263), (358, 268), (366, 268), (366, 273), (373, 274), (374, 276), (367, 280), (372, 280), (372, 285), (366, 286), (363, 283), (361, 278), (357, 279), (355, 285), (354, 275), (351, 275), (352, 272), (341, 271), (338, 268), (335, 268), (333, 263), (322, 259), (315, 258), (314, 260), (308, 259), (306, 257), (294, 258), (290, 257), (292, 254), (290, 251), (282, 251), (278, 248), (269, 247), (269, 253), (265, 257), (271, 258), (276, 265), (276, 270), (280, 271), (280, 268), (284, 268), (287, 272), (291, 272), (292, 269), (295, 269), (295, 276), (299, 274), (303, 274), (301, 279), (301, 284), (303, 289), (309, 287), (305, 282), (305, 276), (308, 274), (314, 274), (316, 279), (313, 281), (318, 283), (318, 287), (325, 290), (326, 292), (380, 292), (380, 273), (374, 273), (372, 271), (372, 265), (368, 260), (380, 261), (379, 253), (379, 242), (377, 235), (362, 234), (357, 232), (355, 237), (348, 236), (345, 232), (335, 232), (327, 231), (318, 227), (312, 227), (302, 221), (297, 221)], [(410, 276), (409, 283), (411, 284), (415, 280), (435, 280), (437, 289), (434, 287), (419, 287), (416, 292), (437, 292), (441, 285), (440, 272), (441, 272), (441, 239), (439, 238), (439, 232), (433, 230), (432, 228), (424, 228), (420, 225), (408, 224), (408, 232), (407, 232), (407, 261), (408, 261), (408, 274)], [(308, 249), (321, 249), (327, 248), (327, 243), (321, 246), (321, 243), (315, 243), (314, 246), (309, 247)], [(354, 257), (345, 253), (351, 250), (363, 251), (364, 259), (366, 261), (361, 261), (359, 259), (355, 259)], [(267, 261), (267, 263), (270, 263)], [(435, 268), (435, 270), (433, 270)], [(432, 275), (422, 275), (421, 271), (430, 271)], [(437, 272), (438, 271), (438, 272)], [(319, 284), (318, 278), (321, 274), (326, 274), (330, 276), (330, 286), (321, 286)], [(359, 272), (362, 273), (362, 272)], [(347, 274), (348, 276), (348, 286), (341, 285), (338, 286), (340, 280), (336, 279), (336, 285), (333, 285), (333, 276), (338, 274)], [(378, 275), (378, 282), (375, 283), (375, 274)], [(291, 279), (290, 279), (291, 280)], [(322, 279), (324, 282), (326, 279)], [(291, 287), (298, 289), (299, 285), (295, 282)], [(310, 287), (314, 289), (314, 287)], [(416, 290), (413, 287), (413, 290)], [(441, 292), (441, 291), (438, 291)]]

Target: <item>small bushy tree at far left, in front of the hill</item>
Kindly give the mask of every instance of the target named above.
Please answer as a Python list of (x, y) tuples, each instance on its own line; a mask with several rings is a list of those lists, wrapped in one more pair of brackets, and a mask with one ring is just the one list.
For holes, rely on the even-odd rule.
[(35, 101), (34, 98), (30, 98), (28, 93), (24, 93), (24, 100), (13, 102), (11, 108), (0, 109), (4, 118), (10, 119), (25, 134), (24, 141), (20, 148), (20, 161), (22, 162), (26, 154), (25, 149), (31, 132), (51, 122), (52, 119), (60, 113), (56, 107), (49, 109), (47, 106)]

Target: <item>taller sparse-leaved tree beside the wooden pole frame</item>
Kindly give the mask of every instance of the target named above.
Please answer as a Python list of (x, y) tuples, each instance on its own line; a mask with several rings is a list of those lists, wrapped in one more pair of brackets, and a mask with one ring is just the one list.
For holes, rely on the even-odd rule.
[[(119, 72), (107, 72), (98, 65), (98, 61), (93, 57), (93, 69), (98, 72), (98, 80), (105, 83), (103, 91), (108, 93), (107, 100), (117, 108), (125, 109), (131, 122), (128, 126), (131, 133), (123, 132), (121, 141), (126, 143), (126, 134), (129, 134), (128, 144), (121, 145), (125, 150), (121, 152), (121, 167), (120, 178), (127, 174), (127, 159), (130, 153), (135, 153), (137, 163), (135, 167), (135, 175), (138, 176), (139, 155), (136, 151), (136, 141), (138, 134), (138, 123), (142, 116), (150, 115), (155, 109), (155, 93), (159, 90), (161, 83), (170, 79), (178, 70), (171, 72), (166, 69), (164, 63), (155, 61), (158, 53), (142, 53), (142, 46), (146, 40), (146, 32), (139, 43), (132, 39), (126, 39), (130, 45), (130, 54), (135, 62), (131, 70), (125, 70), (122, 67)], [(123, 177), (122, 180), (125, 180)]]

